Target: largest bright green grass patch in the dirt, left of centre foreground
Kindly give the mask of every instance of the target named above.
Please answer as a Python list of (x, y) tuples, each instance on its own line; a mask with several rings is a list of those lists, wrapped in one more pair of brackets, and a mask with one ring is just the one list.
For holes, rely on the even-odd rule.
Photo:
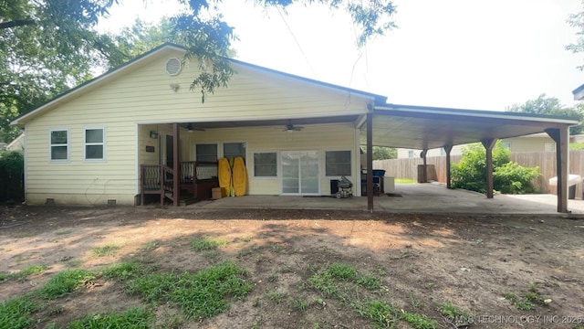
[(198, 319), (227, 311), (225, 297), (242, 298), (250, 292), (252, 285), (245, 281), (245, 273), (245, 269), (225, 263), (194, 274), (144, 275), (130, 280), (128, 290), (140, 293), (149, 302), (176, 302), (186, 318)]

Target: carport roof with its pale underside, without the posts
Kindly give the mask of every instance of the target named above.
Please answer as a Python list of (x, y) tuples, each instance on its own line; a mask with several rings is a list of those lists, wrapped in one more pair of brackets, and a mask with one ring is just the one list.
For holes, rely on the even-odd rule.
[[(516, 112), (472, 111), (410, 105), (376, 107), (373, 145), (432, 149), (444, 145), (475, 143), (542, 133), (548, 128), (578, 124), (576, 120)], [(366, 130), (361, 130), (366, 143)]]

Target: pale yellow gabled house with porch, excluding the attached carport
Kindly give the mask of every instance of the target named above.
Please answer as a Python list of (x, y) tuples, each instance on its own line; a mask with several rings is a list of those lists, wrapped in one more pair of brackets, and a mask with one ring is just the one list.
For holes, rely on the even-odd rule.
[(360, 177), (355, 122), (385, 97), (233, 60), (229, 87), (203, 103), (189, 89), (198, 65), (181, 68), (183, 57), (166, 44), (18, 118), (26, 202), (139, 204), (141, 184), (174, 166), (176, 134), (181, 184), (194, 178), (207, 196), (216, 164), (193, 162), (235, 155), (253, 195), (328, 195), (331, 179)]

